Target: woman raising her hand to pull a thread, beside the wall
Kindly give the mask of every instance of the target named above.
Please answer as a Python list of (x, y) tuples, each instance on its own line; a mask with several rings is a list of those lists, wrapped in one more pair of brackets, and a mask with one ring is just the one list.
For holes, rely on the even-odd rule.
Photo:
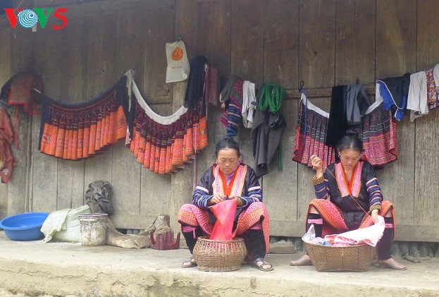
[[(383, 200), (371, 164), (360, 160), (361, 139), (357, 135), (345, 135), (337, 149), (340, 162), (330, 164), (326, 170), (319, 157), (311, 156), (311, 164), (316, 169), (312, 178), (316, 199), (309, 203), (307, 229), (314, 224), (316, 237), (339, 234), (378, 223), (379, 214), (384, 217), (385, 229), (377, 244), (378, 264), (383, 268), (407, 269), (392, 257), (395, 210), (390, 201)], [(311, 265), (311, 260), (309, 255), (304, 255), (290, 265)]]

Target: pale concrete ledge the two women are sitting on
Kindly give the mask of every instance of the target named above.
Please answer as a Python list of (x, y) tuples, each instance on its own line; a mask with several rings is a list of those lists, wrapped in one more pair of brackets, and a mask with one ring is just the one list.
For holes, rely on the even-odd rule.
[(0, 288), (29, 296), (438, 296), (439, 259), (409, 270), (317, 272), (290, 267), (299, 255), (267, 255), (275, 270), (180, 268), (189, 252), (9, 241), (0, 232)]

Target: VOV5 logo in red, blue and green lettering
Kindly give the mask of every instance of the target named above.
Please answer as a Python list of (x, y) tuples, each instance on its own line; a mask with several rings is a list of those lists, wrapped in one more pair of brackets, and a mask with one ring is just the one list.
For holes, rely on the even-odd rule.
[[(16, 15), (14, 13), (14, 8), (4, 8), (6, 16), (8, 16), (9, 19), (9, 23), (11, 23), (11, 28), (16, 28), (17, 23), (20, 23), (23, 28), (32, 28), (39, 22), (41, 28), (44, 29), (46, 28), (47, 20), (49, 19), (53, 10), (54, 8), (46, 8), (46, 13), (44, 13), (44, 8), (17, 8), (18, 14)], [(56, 8), (52, 18), (59, 18), (63, 23), (59, 26), (52, 25), (52, 29), (61, 30), (62, 28), (66, 27), (68, 20), (66, 16), (63, 15), (63, 13), (66, 12), (67, 8)]]

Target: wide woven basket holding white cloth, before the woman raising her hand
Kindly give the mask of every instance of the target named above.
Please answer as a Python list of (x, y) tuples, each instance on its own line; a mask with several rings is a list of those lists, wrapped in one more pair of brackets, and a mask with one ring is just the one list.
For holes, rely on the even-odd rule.
[(305, 242), (305, 248), (319, 272), (367, 271), (375, 255), (375, 248), (367, 244), (323, 246)]

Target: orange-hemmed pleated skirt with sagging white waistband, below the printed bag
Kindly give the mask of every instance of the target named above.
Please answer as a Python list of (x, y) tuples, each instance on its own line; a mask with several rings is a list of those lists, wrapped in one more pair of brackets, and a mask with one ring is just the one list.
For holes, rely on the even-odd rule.
[(199, 107), (180, 107), (171, 116), (159, 116), (147, 105), (132, 81), (136, 98), (134, 126), (127, 146), (137, 162), (157, 174), (183, 169), (194, 154), (207, 146), (206, 112)]

